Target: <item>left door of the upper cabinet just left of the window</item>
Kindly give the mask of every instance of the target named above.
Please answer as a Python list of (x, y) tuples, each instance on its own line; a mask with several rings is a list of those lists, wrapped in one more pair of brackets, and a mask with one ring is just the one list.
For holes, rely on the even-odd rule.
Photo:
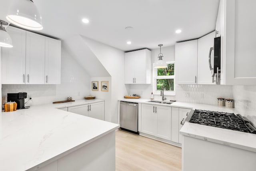
[(124, 54), (124, 84), (134, 84), (135, 51)]

